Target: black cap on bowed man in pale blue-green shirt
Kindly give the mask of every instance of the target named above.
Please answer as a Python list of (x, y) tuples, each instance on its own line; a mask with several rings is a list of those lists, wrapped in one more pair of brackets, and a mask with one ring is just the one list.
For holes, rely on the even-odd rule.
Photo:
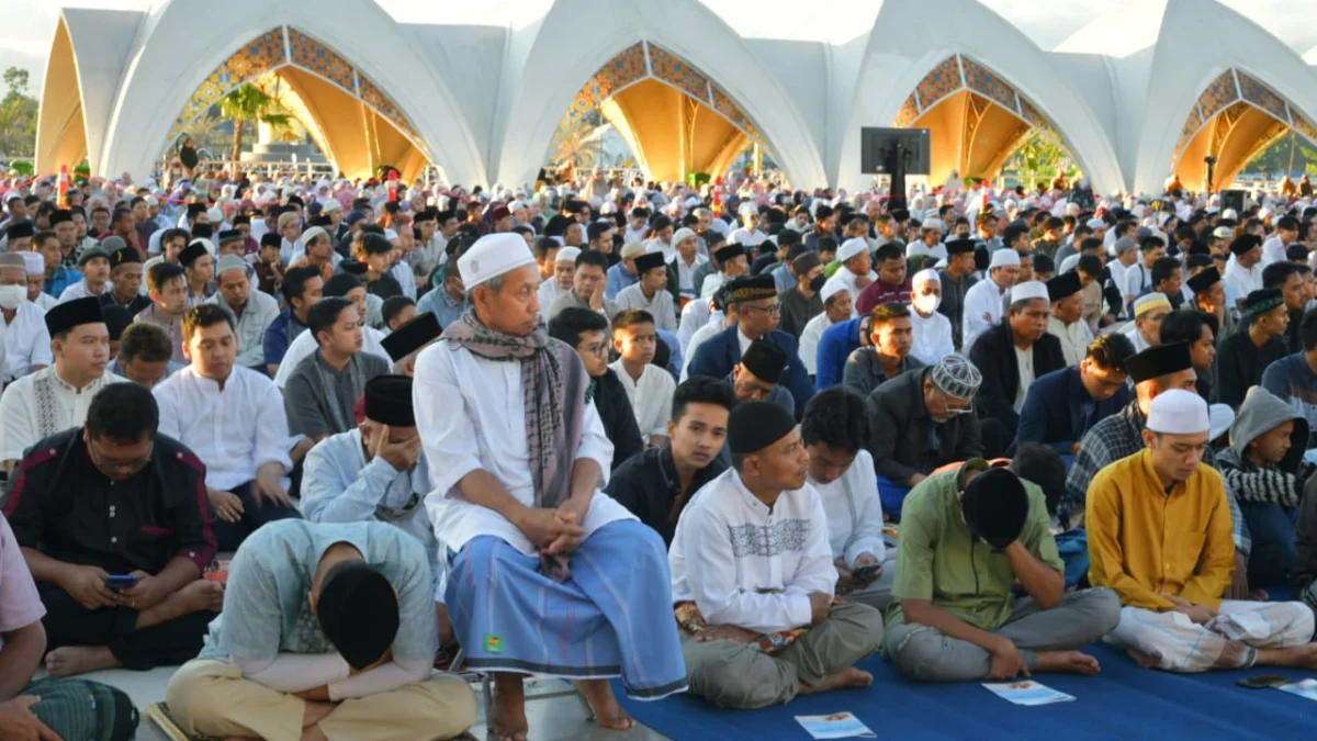
[(320, 584), (316, 618), (348, 666), (360, 671), (379, 661), (398, 636), (398, 595), (374, 566), (344, 562)]

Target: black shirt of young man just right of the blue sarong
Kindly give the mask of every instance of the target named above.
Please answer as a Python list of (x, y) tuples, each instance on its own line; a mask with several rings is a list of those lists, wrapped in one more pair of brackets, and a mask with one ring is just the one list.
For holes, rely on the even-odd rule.
[(630, 509), (640, 522), (653, 527), (662, 535), (664, 545), (670, 546), (677, 530), (677, 518), (686, 508), (686, 502), (723, 471), (727, 471), (727, 464), (719, 456), (714, 456), (709, 465), (695, 472), (681, 509), (673, 512), (677, 497), (681, 496), (681, 479), (677, 477), (677, 465), (672, 460), (672, 447), (664, 446), (627, 459), (612, 472), (603, 490)]

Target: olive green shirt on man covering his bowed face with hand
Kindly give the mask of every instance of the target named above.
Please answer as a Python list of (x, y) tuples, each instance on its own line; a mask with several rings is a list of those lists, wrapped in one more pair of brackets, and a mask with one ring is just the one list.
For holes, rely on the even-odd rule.
[[(1005, 554), (993, 552), (969, 533), (960, 514), (959, 473), (957, 468), (928, 476), (905, 500), (888, 630), (905, 622), (901, 600), (931, 600), (981, 630), (996, 630), (1010, 618), (1015, 572)], [(1064, 571), (1048, 529), (1043, 490), (1030, 481), (1023, 484), (1029, 519), (1019, 542), (1034, 558)]]

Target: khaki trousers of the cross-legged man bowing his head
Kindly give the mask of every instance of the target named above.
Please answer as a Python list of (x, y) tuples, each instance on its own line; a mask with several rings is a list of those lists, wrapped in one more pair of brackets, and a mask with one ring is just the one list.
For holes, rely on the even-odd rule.
[[(306, 703), (242, 679), (232, 663), (194, 659), (169, 683), (170, 715), (188, 734), (255, 736), (298, 741)], [(329, 741), (421, 741), (452, 738), (475, 723), (475, 694), (444, 674), (389, 692), (344, 700), (317, 725)]]

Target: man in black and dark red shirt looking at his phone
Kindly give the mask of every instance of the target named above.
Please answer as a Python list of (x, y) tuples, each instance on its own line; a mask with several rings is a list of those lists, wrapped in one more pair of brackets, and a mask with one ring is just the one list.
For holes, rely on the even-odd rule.
[(151, 392), (112, 384), (11, 480), (4, 513), (46, 605), (51, 676), (187, 661), (224, 600), (200, 579), (215, 556), (205, 468), (158, 423)]

